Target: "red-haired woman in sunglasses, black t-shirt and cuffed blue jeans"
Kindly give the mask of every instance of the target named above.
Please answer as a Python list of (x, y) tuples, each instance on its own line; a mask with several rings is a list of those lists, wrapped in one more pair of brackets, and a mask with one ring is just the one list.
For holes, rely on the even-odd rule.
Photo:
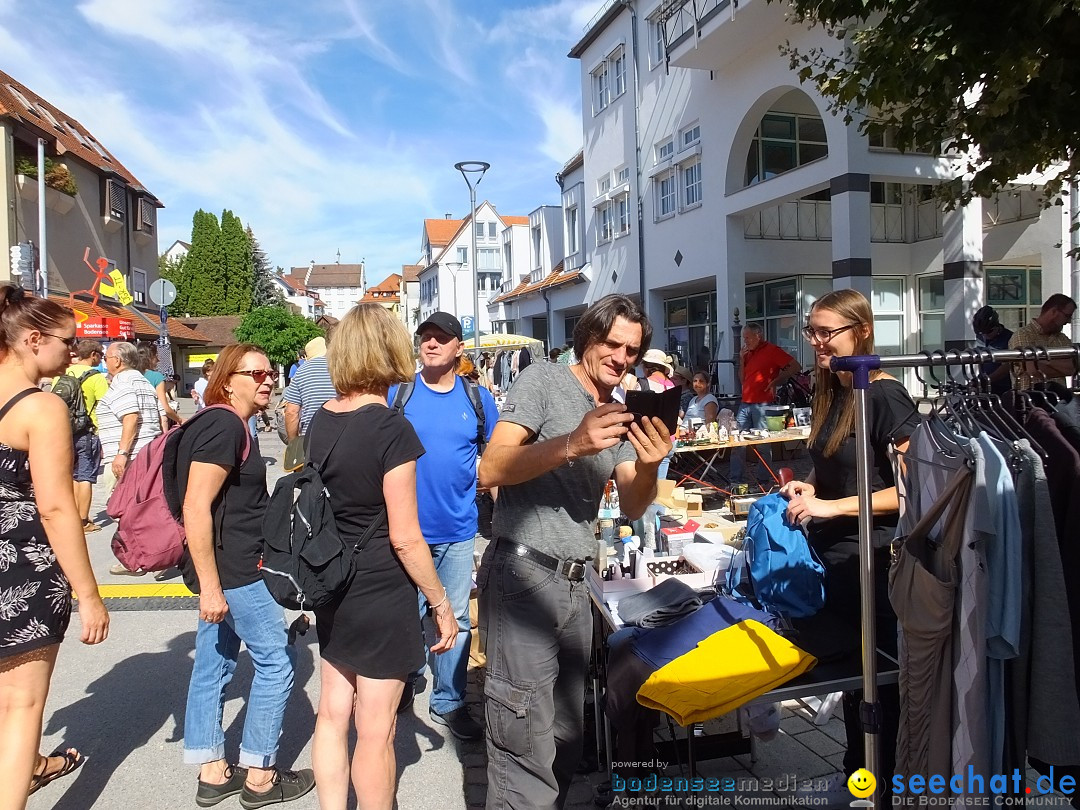
[[(244, 807), (261, 807), (298, 799), (314, 787), (310, 770), (276, 767), (295, 652), (288, 645), (285, 612), (259, 572), (269, 497), (266, 465), (247, 435), (247, 420), (269, 404), (276, 379), (261, 349), (249, 343), (226, 347), (204, 400), (207, 406), (228, 407), (192, 417), (177, 446), (176, 478), (188, 536), (180, 568), (188, 588), (199, 594), (184, 761), (200, 766), (200, 807), (235, 794), (241, 794)], [(221, 710), (241, 642), (251, 653), (255, 677), (233, 767), (225, 755)]]

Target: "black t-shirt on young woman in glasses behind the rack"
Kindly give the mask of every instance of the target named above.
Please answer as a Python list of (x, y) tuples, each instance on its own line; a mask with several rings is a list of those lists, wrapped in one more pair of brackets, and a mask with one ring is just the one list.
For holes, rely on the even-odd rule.
[[(896, 481), (889, 460), (889, 444), (903, 441), (912, 435), (919, 423), (915, 403), (906, 389), (890, 377), (881, 377), (870, 383), (869, 396), (869, 440), (874, 457), (870, 464), (872, 490), (888, 489)], [(859, 467), (855, 453), (855, 434), (852, 432), (832, 456), (825, 455), (825, 444), (833, 432), (843, 405), (852, 396), (850, 389), (833, 400), (833, 407), (825, 427), (810, 445), (813, 461), (816, 497), (824, 500), (850, 498), (859, 495)], [(897, 514), (874, 517), (874, 544), (887, 545), (892, 541), (896, 528)], [(837, 541), (859, 539), (859, 518), (843, 515), (829, 519), (814, 518), (810, 524), (810, 538), (815, 546), (832, 545)]]

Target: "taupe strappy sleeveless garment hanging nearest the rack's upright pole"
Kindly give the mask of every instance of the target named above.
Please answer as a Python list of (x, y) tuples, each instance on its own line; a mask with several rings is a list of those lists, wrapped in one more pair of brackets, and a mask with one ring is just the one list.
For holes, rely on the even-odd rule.
[[(919, 444), (916, 436), (912, 440), (912, 446)], [(933, 460), (940, 462), (944, 457)], [(923, 467), (913, 458), (905, 461), (907, 471)], [(896, 773), (948, 773), (951, 768), (951, 637), (960, 579), (957, 554), (964, 539), (972, 486), (971, 471), (962, 458), (957, 462), (951, 473), (935, 470), (949, 477), (932, 503), (924, 502), (919, 514), (905, 511), (907, 523), (918, 522), (900, 538), (903, 544), (889, 569), (889, 600), (896, 611), (901, 639)], [(906, 475), (897, 478), (901, 481), (897, 486), (905, 489), (913, 483)]]

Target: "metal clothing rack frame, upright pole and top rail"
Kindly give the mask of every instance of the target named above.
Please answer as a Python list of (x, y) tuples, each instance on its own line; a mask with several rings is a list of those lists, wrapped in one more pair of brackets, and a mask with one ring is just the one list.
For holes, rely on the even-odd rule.
[[(921, 354), (855, 354), (833, 357), (833, 372), (850, 372), (851, 388), (855, 395), (855, 455), (859, 485), (859, 583), (862, 620), (863, 701), (860, 719), (863, 726), (865, 767), (874, 774), (880, 765), (879, 740), (881, 733), (881, 704), (877, 693), (877, 631), (874, 623), (874, 549), (870, 542), (873, 525), (872, 475), (869, 446), (869, 393), (870, 372), (882, 368), (926, 368), (931, 366), (977, 365), (981, 363), (1049, 362), (1072, 359), (1080, 361), (1080, 343), (1070, 349), (948, 349)], [(876, 801), (876, 799), (875, 799)], [(877, 805), (875, 805), (876, 807)]]

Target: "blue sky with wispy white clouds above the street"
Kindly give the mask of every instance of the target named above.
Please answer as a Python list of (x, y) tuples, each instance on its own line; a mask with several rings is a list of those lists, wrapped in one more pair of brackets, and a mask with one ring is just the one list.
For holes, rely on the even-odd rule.
[(165, 203), (232, 210), (291, 266), (415, 261), (426, 217), (558, 204), (581, 147), (599, 0), (0, 0), (0, 67), (77, 118)]

